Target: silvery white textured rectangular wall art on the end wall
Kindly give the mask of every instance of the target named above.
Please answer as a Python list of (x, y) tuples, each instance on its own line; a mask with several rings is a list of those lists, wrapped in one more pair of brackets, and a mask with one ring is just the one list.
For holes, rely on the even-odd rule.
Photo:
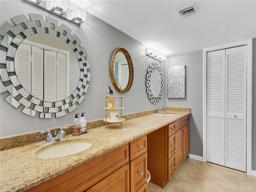
[(167, 98), (185, 98), (185, 65), (167, 68)]

